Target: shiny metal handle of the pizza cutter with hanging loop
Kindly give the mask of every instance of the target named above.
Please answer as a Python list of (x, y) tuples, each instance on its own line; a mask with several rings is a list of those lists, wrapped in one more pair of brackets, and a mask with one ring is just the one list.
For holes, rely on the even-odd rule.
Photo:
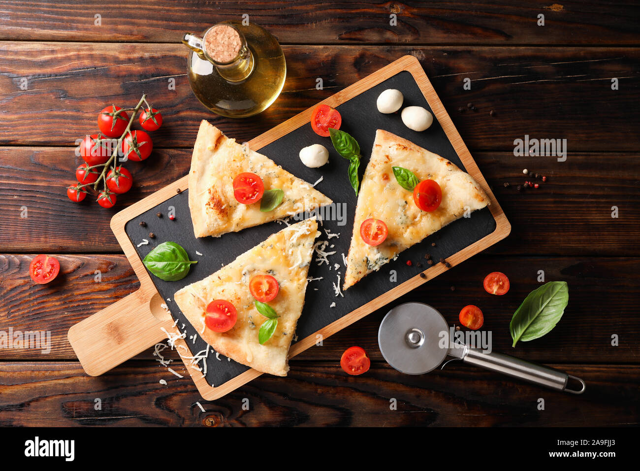
[[(483, 353), (481, 349), (469, 349), (463, 359), (466, 363), (476, 365), (486, 370), (524, 379), (525, 381), (529, 381), (529, 383), (540, 384), (541, 386), (547, 386), (548, 388), (559, 391), (582, 394), (586, 389), (586, 384), (578, 377), (502, 353)], [(567, 387), (569, 378), (575, 379), (582, 384), (582, 388), (579, 390), (569, 389)]]

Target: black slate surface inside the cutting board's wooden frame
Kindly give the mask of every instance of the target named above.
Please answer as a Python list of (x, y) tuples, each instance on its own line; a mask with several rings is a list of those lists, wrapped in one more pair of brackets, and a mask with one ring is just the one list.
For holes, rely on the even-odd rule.
[[(376, 85), (376, 87), (338, 106), (337, 109), (342, 115), (342, 127), (340, 129), (354, 136), (360, 144), (362, 151), (360, 178), (362, 178), (364, 169), (369, 161), (369, 154), (371, 153), (376, 129), (385, 129), (398, 136), (404, 137), (425, 149), (429, 149), (429, 151), (451, 160), (458, 165), (458, 167), (464, 169), (465, 167), (462, 165), (451, 142), (449, 142), (437, 120), (434, 120), (431, 128), (422, 133), (418, 133), (404, 126), (399, 113), (384, 115), (378, 112), (376, 99), (378, 95), (387, 88), (397, 88), (403, 93), (403, 107), (416, 105), (423, 106), (431, 111), (413, 76), (406, 71), (399, 72)], [(300, 149), (311, 144), (323, 144), (329, 149), (329, 163), (320, 169), (309, 169), (305, 167), (305, 165), (301, 163), (300, 158), (298, 158)], [(328, 324), (331, 324), (340, 317), (347, 315), (356, 308), (359, 308), (391, 288), (394, 288), (394, 286), (403, 283), (428, 268), (424, 260), (426, 253), (431, 254), (431, 258), (436, 261), (441, 257), (447, 258), (484, 236), (489, 235), (496, 227), (495, 219), (493, 219), (488, 208), (475, 211), (472, 213), (472, 217), (459, 219), (434, 235), (429, 236), (420, 244), (416, 244), (402, 252), (396, 261), (388, 263), (383, 266), (380, 271), (369, 274), (364, 280), (360, 281), (360, 283), (349, 288), (344, 294), (344, 297), (336, 297), (332, 282), (337, 283), (339, 273), (340, 281), (343, 279), (344, 264), (342, 261), (342, 253), (346, 256), (349, 251), (357, 201), (347, 177), (348, 161), (340, 157), (339, 154), (333, 150), (329, 138), (317, 136), (308, 123), (275, 142), (262, 147), (262, 149), (259, 149), (259, 152), (268, 156), (279, 165), (282, 165), (285, 170), (288, 170), (295, 176), (308, 181), (310, 184), (313, 184), (323, 176), (323, 181), (316, 186), (317, 190), (330, 197), (336, 205), (346, 203), (346, 214), (342, 214), (342, 220), (324, 220), (323, 226), (320, 227), (323, 235), (317, 240), (327, 240), (324, 229), (329, 229), (331, 233), (340, 233), (340, 236), (339, 238), (334, 237), (330, 239), (330, 244), (334, 244), (335, 247), (331, 249), (327, 247), (326, 249), (326, 251), (336, 252), (329, 257), (331, 265), (328, 266), (324, 264), (318, 266), (317, 263), (312, 262), (309, 269), (309, 277), (323, 277), (323, 279), (311, 281), (307, 286), (305, 307), (298, 321), (298, 328), (296, 329), (298, 339), (316, 333), (319, 329), (328, 326)], [(175, 220), (170, 220), (167, 217), (168, 211), (170, 211), (170, 207), (172, 206), (175, 208)], [(163, 213), (162, 218), (156, 216), (158, 212)], [(336, 214), (339, 215), (337, 212)], [(147, 227), (141, 227), (139, 225), (140, 221), (145, 221)], [(296, 220), (291, 220), (291, 223), (294, 222), (296, 222)], [(184, 324), (185, 327), (182, 331), (186, 331), (186, 343), (195, 354), (196, 352), (206, 349), (207, 344), (199, 335), (196, 337), (195, 343), (192, 342), (191, 338), (197, 333), (196, 329), (189, 324), (188, 320), (186, 320), (177, 307), (177, 304), (173, 301), (173, 293), (186, 285), (216, 272), (223, 264), (227, 265), (227, 263), (234, 261), (239, 254), (251, 249), (283, 227), (282, 224), (271, 222), (269, 224), (244, 229), (239, 233), (225, 234), (220, 238), (207, 237), (196, 239), (195, 236), (193, 236), (193, 226), (191, 225), (191, 216), (189, 214), (188, 190), (185, 190), (127, 222), (125, 231), (134, 247), (136, 247), (143, 238), (149, 240), (148, 245), (136, 247), (140, 258), (144, 258), (157, 244), (171, 240), (182, 245), (188, 252), (191, 260), (198, 261), (198, 263), (192, 265), (189, 275), (180, 281), (167, 282), (162, 281), (152, 274), (150, 275), (158, 292), (163, 299), (166, 300), (165, 302), (171, 310), (173, 317), (178, 319), (177, 326), (182, 327), (182, 324)], [(150, 239), (148, 237), (149, 232), (153, 232), (156, 238)], [(436, 242), (435, 247), (431, 247), (432, 242)], [(196, 251), (202, 253), (203, 256), (196, 255)], [(411, 266), (406, 265), (406, 261), (408, 260), (412, 261)], [(417, 267), (416, 264), (418, 262), (422, 263), (422, 268)], [(334, 269), (334, 263), (340, 265), (337, 270)], [(390, 281), (390, 270), (396, 270), (397, 281)], [(317, 288), (317, 291), (314, 290), (314, 288)], [(170, 301), (168, 301), (168, 299), (170, 299)], [(330, 308), (332, 302), (335, 302), (334, 308)], [(220, 356), (220, 358), (222, 361), (216, 359), (214, 354), (209, 354), (209, 358), (207, 359), (206, 379), (207, 383), (213, 386), (221, 386), (221, 384), (227, 382), (229, 379), (249, 369), (244, 365), (236, 363), (236, 361), (227, 361), (227, 358), (223, 356)]]

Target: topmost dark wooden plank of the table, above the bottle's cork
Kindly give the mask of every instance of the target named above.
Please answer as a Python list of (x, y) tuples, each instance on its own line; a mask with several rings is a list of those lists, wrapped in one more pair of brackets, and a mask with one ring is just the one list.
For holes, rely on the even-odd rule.
[[(3, 0), (0, 10), (9, 21), (0, 30), (6, 40), (177, 42), (187, 31), (245, 13), (285, 44), (637, 44), (640, 33), (640, 10), (632, 1), (361, 0), (323, 1), (318, 8), (308, 0)], [(102, 26), (95, 26), (96, 13)], [(537, 25), (539, 13), (544, 27)]]

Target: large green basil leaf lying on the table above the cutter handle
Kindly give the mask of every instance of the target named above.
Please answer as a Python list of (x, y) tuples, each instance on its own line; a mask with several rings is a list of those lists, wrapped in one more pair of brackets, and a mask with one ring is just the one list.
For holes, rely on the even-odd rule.
[(515, 347), (518, 340), (528, 342), (540, 338), (556, 327), (568, 302), (566, 281), (550, 281), (529, 293), (509, 324), (512, 346)]

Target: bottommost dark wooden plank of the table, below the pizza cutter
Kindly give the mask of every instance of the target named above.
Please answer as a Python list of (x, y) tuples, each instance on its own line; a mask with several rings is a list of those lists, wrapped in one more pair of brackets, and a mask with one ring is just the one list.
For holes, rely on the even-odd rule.
[[(348, 377), (332, 363), (293, 360), (287, 378), (263, 375), (207, 402), (188, 377), (178, 379), (148, 363), (131, 363), (100, 377), (84, 375), (77, 363), (0, 363), (0, 426), (639, 424), (639, 367), (550, 366), (584, 378), (586, 392), (575, 396), (546, 390), (456, 362), (422, 376), (374, 363), (367, 374)], [(160, 379), (168, 385), (159, 384)], [(544, 411), (537, 409), (540, 397)], [(392, 399), (397, 410), (390, 409)]]

